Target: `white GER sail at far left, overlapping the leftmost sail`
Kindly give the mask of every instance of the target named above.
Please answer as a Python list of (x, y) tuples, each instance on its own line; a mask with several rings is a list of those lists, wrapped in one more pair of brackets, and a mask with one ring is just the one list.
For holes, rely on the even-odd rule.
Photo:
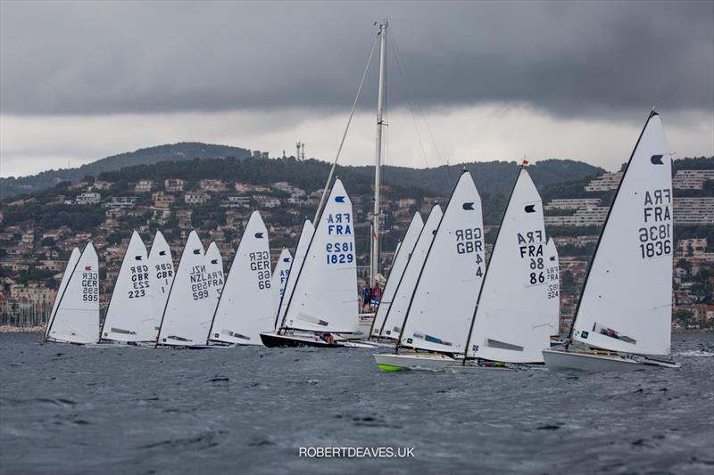
[(99, 341), (99, 259), (91, 242), (82, 251), (59, 299), (47, 339), (68, 343)]

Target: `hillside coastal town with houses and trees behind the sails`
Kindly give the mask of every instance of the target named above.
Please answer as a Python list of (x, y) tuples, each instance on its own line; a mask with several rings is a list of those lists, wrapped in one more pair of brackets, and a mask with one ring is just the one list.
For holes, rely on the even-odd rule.
[[(623, 172), (595, 176), (576, 194), (583, 197), (544, 200), (545, 225), (560, 253), (560, 330), (567, 332), (575, 312), (588, 262)], [(264, 180), (263, 180), (264, 181)], [(714, 168), (677, 169), (674, 222), (676, 249), (672, 328), (676, 331), (714, 326), (714, 242), (702, 230), (714, 226)], [(169, 240), (174, 260), (187, 234), (196, 229), (205, 244), (216, 242), (228, 266), (253, 209), (259, 209), (270, 233), (271, 258), (286, 247), (294, 250), (304, 218), (311, 218), (322, 190), (304, 189), (290, 181), (268, 184), (179, 177), (118, 183), (88, 176), (79, 183), (58, 184), (46, 192), (5, 200), (0, 209), (0, 325), (39, 327), (52, 308), (62, 272), (74, 247), (92, 241), (100, 255), (100, 296), (104, 309), (112, 294), (130, 233), (146, 243), (156, 229)], [(360, 286), (367, 279), (368, 192), (354, 193)], [(426, 217), (448, 196), (403, 197), (382, 186), (381, 265), (388, 274), (397, 242), (419, 211)], [(398, 195), (398, 196), (397, 196)], [(39, 207), (45, 213), (13, 213)], [(73, 211), (79, 211), (73, 212)], [(486, 224), (486, 252), (498, 225)], [(679, 234), (679, 235), (677, 235)], [(490, 238), (490, 239), (489, 239)], [(228, 268), (228, 267), (227, 267)]]

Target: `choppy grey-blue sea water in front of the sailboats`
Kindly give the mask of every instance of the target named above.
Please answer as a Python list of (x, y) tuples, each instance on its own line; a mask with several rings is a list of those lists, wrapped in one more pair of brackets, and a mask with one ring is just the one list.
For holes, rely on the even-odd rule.
[[(362, 349), (181, 351), (0, 335), (3, 473), (714, 472), (714, 334), (681, 370), (382, 373)], [(407, 459), (300, 458), (408, 446)], [(394, 449), (396, 450), (396, 449)]]

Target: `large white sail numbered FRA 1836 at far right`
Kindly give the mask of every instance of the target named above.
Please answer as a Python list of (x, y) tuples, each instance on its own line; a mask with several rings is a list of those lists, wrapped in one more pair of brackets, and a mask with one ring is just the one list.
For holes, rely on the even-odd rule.
[(671, 156), (652, 111), (602, 230), (572, 337), (639, 355), (669, 353), (672, 319)]

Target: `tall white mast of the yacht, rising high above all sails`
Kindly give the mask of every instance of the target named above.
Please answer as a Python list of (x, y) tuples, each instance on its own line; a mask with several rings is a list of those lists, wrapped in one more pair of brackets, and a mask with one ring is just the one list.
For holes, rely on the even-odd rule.
[(386, 26), (387, 20), (382, 20), (379, 25), (379, 94), (377, 102), (377, 143), (374, 167), (374, 212), (372, 216), (372, 246), (369, 261), (369, 285), (375, 288), (379, 271), (379, 192), (381, 186), (382, 167), (382, 127), (384, 127), (385, 114), (385, 84), (386, 84)]

